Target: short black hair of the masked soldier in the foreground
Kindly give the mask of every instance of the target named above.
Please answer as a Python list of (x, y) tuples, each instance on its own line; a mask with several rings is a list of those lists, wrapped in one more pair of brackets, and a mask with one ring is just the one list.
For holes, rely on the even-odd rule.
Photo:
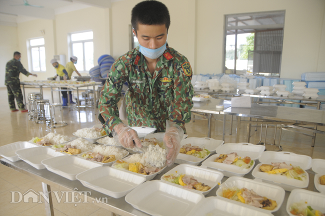
[(133, 7), (131, 12), (131, 24), (135, 32), (138, 23), (145, 25), (165, 24), (168, 31), (170, 25), (168, 8), (160, 1), (141, 1)]

